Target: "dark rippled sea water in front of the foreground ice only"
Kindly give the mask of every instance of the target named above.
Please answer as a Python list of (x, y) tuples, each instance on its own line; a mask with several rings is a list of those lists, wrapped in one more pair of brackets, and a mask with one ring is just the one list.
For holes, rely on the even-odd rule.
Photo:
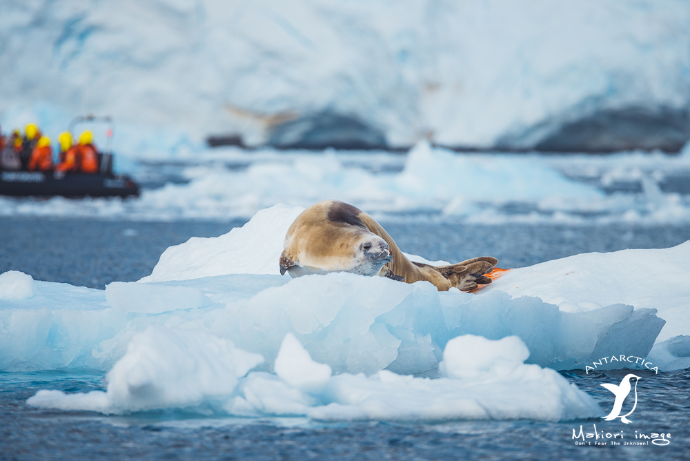
[[(602, 382), (618, 382), (626, 371), (589, 376), (564, 373), (608, 409)], [(103, 416), (27, 406), (39, 389), (66, 392), (104, 389), (101, 376), (59, 372), (0, 373), (0, 459), (217, 459), (217, 460), (685, 460), (690, 448), (689, 371), (640, 373), (639, 408), (631, 424), (597, 420), (571, 422), (457, 421), (442, 424), (355, 422), (315, 424), (302, 418), (253, 420), (199, 418), (175, 412)], [(624, 407), (627, 409), (627, 407)], [(573, 430), (603, 437), (576, 445)], [(613, 446), (620, 442), (642, 446)], [(658, 446), (640, 434), (671, 434)], [(576, 434), (576, 435), (577, 435)], [(635, 437), (637, 436), (637, 438)], [(580, 439), (578, 439), (579, 441)], [(650, 439), (651, 440), (651, 439)]]

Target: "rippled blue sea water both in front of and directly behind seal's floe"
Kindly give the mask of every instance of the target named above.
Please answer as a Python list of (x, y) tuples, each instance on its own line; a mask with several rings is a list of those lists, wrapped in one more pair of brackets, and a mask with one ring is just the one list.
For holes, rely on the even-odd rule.
[[(148, 275), (167, 246), (192, 236), (226, 233), (244, 222), (115, 222), (99, 219), (0, 218), (0, 272), (15, 269), (35, 279), (103, 288), (113, 280)], [(526, 266), (588, 251), (664, 248), (684, 242), (685, 226), (564, 226), (384, 223), (401, 248), (429, 259), (493, 255), (500, 266)], [(629, 371), (566, 372), (604, 411), (613, 404), (602, 383)], [(687, 459), (690, 449), (690, 372), (640, 375), (638, 406), (620, 421), (458, 421), (442, 424), (358, 422), (322, 424), (304, 418), (214, 418), (176, 411), (125, 416), (37, 409), (26, 404), (40, 389), (105, 389), (95, 373), (0, 373), (0, 459)], [(629, 406), (624, 406), (629, 411)], [(622, 414), (624, 414), (622, 412)], [(603, 438), (577, 445), (573, 430)], [(669, 444), (613, 446), (640, 434), (671, 434)], [(638, 438), (635, 438), (635, 436)], [(620, 442), (620, 437), (616, 440)], [(595, 445), (594, 442), (606, 442)], [(591, 445), (589, 442), (592, 442)]]

